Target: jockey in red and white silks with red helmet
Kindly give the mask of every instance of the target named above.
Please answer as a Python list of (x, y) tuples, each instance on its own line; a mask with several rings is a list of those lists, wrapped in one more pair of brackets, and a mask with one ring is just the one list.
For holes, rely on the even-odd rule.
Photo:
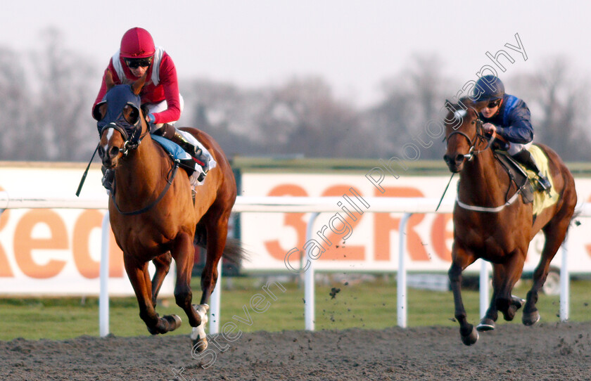
[[(107, 92), (105, 79), (109, 71), (115, 84), (132, 83), (147, 72), (146, 84), (139, 95), (142, 106), (147, 110), (146, 122), (150, 126), (150, 133), (174, 141), (194, 157), (200, 164), (196, 166), (198, 181), (203, 181), (212, 157), (193, 135), (174, 127), (174, 122), (181, 116), (183, 98), (179, 94), (177, 69), (168, 53), (162, 47), (155, 46), (151, 34), (141, 27), (134, 27), (125, 32), (120, 49), (110, 59), (105, 70), (93, 110)], [(111, 171), (107, 171), (103, 178), (106, 188), (112, 183), (112, 179), (109, 178), (113, 177), (113, 174), (108, 172)]]

